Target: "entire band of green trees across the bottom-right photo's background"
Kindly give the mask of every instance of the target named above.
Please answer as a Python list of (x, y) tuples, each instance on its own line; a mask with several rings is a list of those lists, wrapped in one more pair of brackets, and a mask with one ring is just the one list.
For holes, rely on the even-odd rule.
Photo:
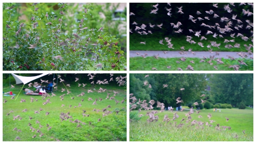
[[(130, 74), (130, 94), (137, 100), (160, 101), (166, 107), (201, 102), (253, 105), (253, 74)], [(149, 85), (143, 86), (144, 81)], [(163, 84), (168, 87), (163, 88)], [(181, 88), (185, 90), (181, 91)], [(200, 97), (202, 94), (205, 96)], [(176, 104), (180, 97), (184, 103)], [(130, 102), (132, 102), (130, 100)], [(156, 105), (156, 104), (155, 104)], [(153, 105), (153, 106), (155, 106)]]

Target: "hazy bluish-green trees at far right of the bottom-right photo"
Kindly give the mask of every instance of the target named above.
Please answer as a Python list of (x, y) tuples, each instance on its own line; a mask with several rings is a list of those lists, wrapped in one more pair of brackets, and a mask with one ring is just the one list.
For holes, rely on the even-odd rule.
[(253, 74), (213, 74), (209, 82), (215, 102), (253, 105)]

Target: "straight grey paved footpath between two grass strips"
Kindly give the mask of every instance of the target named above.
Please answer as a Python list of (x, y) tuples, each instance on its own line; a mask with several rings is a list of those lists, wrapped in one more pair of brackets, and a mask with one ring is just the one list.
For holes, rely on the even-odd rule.
[[(139, 53), (140, 55), (136, 54)], [(141, 50), (130, 50), (130, 57), (136, 57), (136, 56), (141, 56), (144, 55), (144, 53), (147, 53), (148, 56), (154, 56), (154, 55), (158, 55), (159, 53), (159, 58), (176, 58), (176, 57), (186, 57), (186, 58), (203, 58), (203, 56), (209, 58), (210, 55), (213, 56), (216, 53), (210, 53), (210, 52), (195, 52), (195, 55), (193, 55), (191, 52), (187, 51), (187, 55), (181, 55), (179, 53), (180, 51), (167, 51), (166, 54), (163, 53), (163, 51), (141, 51)], [(239, 52), (219, 52), (220, 55), (215, 55), (214, 58), (225, 58), (227, 59), (227, 55), (230, 55), (234, 58), (241, 58), (241, 56), (237, 55), (237, 53)], [(247, 53), (247, 52), (243, 52), (243, 53)], [(248, 53), (247, 53), (248, 54)], [(253, 57), (252, 55), (248, 55), (247, 58)]]

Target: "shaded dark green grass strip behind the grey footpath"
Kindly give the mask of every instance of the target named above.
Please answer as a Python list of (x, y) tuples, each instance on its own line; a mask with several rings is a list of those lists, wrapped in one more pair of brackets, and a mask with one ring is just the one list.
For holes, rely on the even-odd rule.
[[(193, 34), (191, 34), (190, 36), (192, 36), (192, 40), (194, 40), (196, 42), (196, 44), (190, 44), (189, 42), (186, 41), (186, 36), (176, 36), (176, 37), (171, 37), (171, 36), (159, 36), (158, 34), (147, 34), (147, 35), (140, 35), (140, 34), (132, 34), (130, 35), (130, 45), (129, 45), (129, 50), (162, 50), (162, 51), (180, 51), (182, 49), (180, 49), (180, 47), (185, 46), (185, 51), (188, 51), (189, 48), (192, 48), (193, 51), (208, 51), (209, 48), (207, 48), (207, 45), (211, 45), (211, 41), (213, 42), (217, 42), (217, 43), (221, 43), (221, 45), (219, 46), (220, 49), (216, 48), (216, 47), (211, 47), (213, 48), (213, 51), (220, 51), (220, 52), (247, 52), (248, 50), (246, 50), (246, 48), (244, 47), (244, 44), (246, 44), (247, 46), (249, 46), (249, 44), (253, 45), (253, 42), (251, 40), (248, 40), (247, 42), (242, 40), (241, 37), (235, 37), (235, 42), (228, 42), (228, 43), (224, 43), (224, 40), (232, 40), (232, 37), (224, 37), (224, 38), (214, 38), (212, 35), (208, 35), (205, 36), (207, 38), (207, 40), (202, 40), (200, 41), (201, 37), (197, 37), (194, 36)], [(165, 42), (165, 37), (169, 37), (171, 38), (171, 43), (173, 44), (173, 48), (174, 49), (170, 49), (167, 46), (167, 42)], [(161, 45), (159, 43), (159, 40), (163, 39), (163, 43), (165, 45)], [(140, 44), (140, 42), (145, 42), (146, 41), (146, 45), (144, 44)], [(199, 46), (197, 43), (198, 42), (202, 42), (204, 44), (204, 47), (202, 48), (201, 46)], [(230, 44), (232, 46), (235, 45), (235, 43), (239, 43), (240, 44), (240, 48), (225, 48), (225, 45)], [(252, 52), (253, 52), (253, 48), (251, 48)]]

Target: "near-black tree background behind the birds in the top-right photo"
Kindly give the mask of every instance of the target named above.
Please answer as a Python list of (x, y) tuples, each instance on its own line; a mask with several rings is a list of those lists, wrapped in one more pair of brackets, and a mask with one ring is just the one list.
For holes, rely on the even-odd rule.
[[(182, 25), (180, 26), (181, 29), (183, 29), (183, 34), (185, 36), (191, 36), (191, 33), (189, 33), (189, 29), (192, 29), (195, 31), (199, 31), (201, 30), (202, 33), (201, 35), (205, 35), (205, 33), (207, 32), (207, 30), (212, 31), (213, 33), (216, 32), (217, 34), (219, 34), (217, 32), (217, 27), (216, 29), (214, 28), (208, 28), (208, 27), (202, 27), (200, 26), (203, 23), (205, 23), (206, 25), (211, 25), (214, 26), (216, 23), (219, 23), (221, 28), (225, 28), (225, 25), (228, 23), (227, 22), (220, 22), (220, 18), (222, 17), (227, 17), (229, 18), (232, 22), (232, 29), (234, 31), (232, 31), (232, 33), (241, 33), (244, 34), (244, 36), (251, 36), (250, 34), (250, 30), (246, 29), (245, 27), (247, 26), (247, 22), (246, 20), (250, 20), (251, 22), (253, 22), (253, 15), (252, 16), (247, 16), (244, 15), (243, 9), (247, 10), (249, 9), (250, 12), (253, 12), (253, 8), (252, 6), (246, 4), (246, 5), (241, 5), (239, 6), (240, 3), (234, 3), (235, 6), (232, 6), (229, 3), (218, 3), (218, 7), (214, 7), (213, 3), (171, 3), (171, 6), (167, 5), (167, 3), (159, 3), (158, 7), (158, 11), (157, 14), (150, 14), (151, 10), (155, 9), (155, 7), (153, 7), (153, 5), (155, 5), (157, 3), (130, 3), (130, 12), (133, 12), (135, 15), (130, 16), (130, 29), (132, 28), (133, 30), (135, 29), (135, 25), (132, 25), (132, 23), (135, 21), (138, 23), (138, 27), (141, 26), (141, 24), (145, 24), (147, 25), (146, 30), (151, 30), (152, 33), (159, 33), (163, 36), (168, 36), (168, 35), (173, 35), (173, 36), (180, 36), (181, 34), (177, 34), (174, 33), (174, 31), (177, 31), (178, 29), (174, 29), (173, 27), (171, 27), (170, 23), (174, 23), (177, 24), (177, 22), (181, 22)], [(229, 4), (229, 7), (232, 9), (231, 13), (228, 13), (226, 10), (224, 10), (224, 6)], [(182, 7), (182, 12), (184, 14), (180, 14), (177, 13), (178, 12), (178, 8), (177, 7)], [(166, 8), (170, 9), (171, 8), (171, 12), (172, 15), (171, 17), (167, 15), (168, 11), (166, 10)], [(208, 14), (205, 11), (209, 11), (209, 10), (213, 10), (213, 12), (215, 14), (217, 14), (219, 17), (217, 18), (213, 18), (213, 14)], [(196, 11), (201, 12), (202, 14), (197, 15)], [(243, 29), (240, 28), (240, 30), (236, 30), (234, 28), (234, 26), (237, 25), (237, 20), (233, 20), (232, 15), (237, 15), (236, 19), (240, 19), (243, 23), (240, 23), (239, 25), (243, 24)], [(198, 17), (201, 17), (202, 21), (199, 21), (197, 19), (197, 21), (195, 21), (196, 23), (193, 23), (191, 20), (189, 20), (189, 15), (192, 15), (194, 18), (193, 19), (197, 19)], [(208, 16), (210, 20), (206, 20), (204, 17)], [(156, 25), (154, 28), (150, 28), (149, 27), (149, 22), (153, 24), (161, 24), (163, 23), (162, 28), (158, 28)], [(251, 29), (252, 30), (252, 29)], [(131, 36), (133, 33), (130, 33)], [(222, 34), (223, 37), (224, 36), (229, 36), (230, 33), (227, 34)]]

